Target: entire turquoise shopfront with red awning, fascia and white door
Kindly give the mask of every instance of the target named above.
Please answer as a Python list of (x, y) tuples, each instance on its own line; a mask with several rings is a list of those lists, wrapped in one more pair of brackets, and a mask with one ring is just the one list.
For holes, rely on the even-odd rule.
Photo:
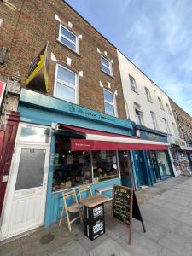
[(134, 185), (131, 150), (167, 148), (133, 137), (129, 120), (33, 90), (21, 90), (19, 111), (1, 240), (56, 222), (64, 189), (90, 183), (95, 194), (114, 184)]

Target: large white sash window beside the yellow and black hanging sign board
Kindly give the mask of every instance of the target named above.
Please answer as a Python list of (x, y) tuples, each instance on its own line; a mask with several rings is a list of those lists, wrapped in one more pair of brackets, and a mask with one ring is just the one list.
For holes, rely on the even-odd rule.
[(56, 66), (54, 96), (67, 102), (78, 102), (78, 76), (61, 65)]

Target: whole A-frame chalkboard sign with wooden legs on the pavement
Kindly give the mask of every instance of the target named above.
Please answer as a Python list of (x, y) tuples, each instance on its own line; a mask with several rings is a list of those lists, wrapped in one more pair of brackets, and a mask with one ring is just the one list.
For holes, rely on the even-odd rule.
[(129, 244), (131, 244), (132, 218), (136, 218), (141, 221), (143, 225), (143, 232), (146, 232), (134, 189), (114, 185), (110, 227), (112, 227), (113, 220), (117, 220), (119, 223), (128, 226), (130, 228)]

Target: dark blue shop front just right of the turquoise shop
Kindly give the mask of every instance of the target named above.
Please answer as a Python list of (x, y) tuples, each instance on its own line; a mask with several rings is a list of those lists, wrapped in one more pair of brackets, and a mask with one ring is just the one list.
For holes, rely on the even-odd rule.
[[(166, 134), (148, 129), (142, 125), (135, 127), (137, 137), (156, 143), (154, 150), (137, 150), (132, 152), (134, 161), (134, 177), (136, 188), (151, 186), (154, 183), (174, 176), (172, 163), (168, 153)], [(166, 148), (160, 149), (158, 143), (165, 143)]]

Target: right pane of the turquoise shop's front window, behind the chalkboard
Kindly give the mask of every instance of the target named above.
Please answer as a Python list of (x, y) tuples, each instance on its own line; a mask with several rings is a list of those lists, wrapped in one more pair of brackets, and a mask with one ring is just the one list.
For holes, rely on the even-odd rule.
[(92, 151), (94, 182), (119, 177), (116, 151)]

